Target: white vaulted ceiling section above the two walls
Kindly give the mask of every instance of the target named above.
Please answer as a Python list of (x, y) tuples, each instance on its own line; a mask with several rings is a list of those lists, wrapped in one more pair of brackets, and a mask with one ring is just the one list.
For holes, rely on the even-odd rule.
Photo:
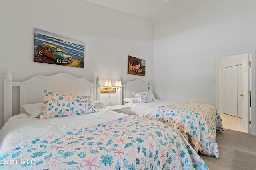
[(152, 23), (164, 20), (179, 12), (193, 8), (205, 0), (86, 0), (120, 10), (129, 14), (148, 18)]

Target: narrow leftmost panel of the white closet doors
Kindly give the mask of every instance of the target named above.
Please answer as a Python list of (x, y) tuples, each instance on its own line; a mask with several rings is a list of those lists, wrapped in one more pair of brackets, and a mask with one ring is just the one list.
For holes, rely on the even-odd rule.
[(222, 113), (228, 114), (228, 68), (221, 69), (222, 74)]

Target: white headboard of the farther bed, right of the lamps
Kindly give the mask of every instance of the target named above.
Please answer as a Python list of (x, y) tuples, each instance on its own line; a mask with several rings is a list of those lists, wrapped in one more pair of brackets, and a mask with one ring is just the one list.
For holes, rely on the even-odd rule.
[(123, 99), (134, 97), (132, 92), (146, 92), (147, 90), (152, 91), (151, 81), (146, 83), (139, 79), (135, 79), (135, 80), (126, 82), (122, 86), (123, 86)]

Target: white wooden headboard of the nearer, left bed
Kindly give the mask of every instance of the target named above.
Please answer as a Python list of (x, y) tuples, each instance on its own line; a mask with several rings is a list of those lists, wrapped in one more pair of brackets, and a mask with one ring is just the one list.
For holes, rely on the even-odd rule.
[[(12, 117), (12, 87), (20, 87), (20, 113), (26, 113), (23, 104), (44, 102), (42, 90), (50, 90), (63, 94), (93, 95), (94, 100), (100, 100), (100, 79), (96, 84), (86, 78), (74, 77), (67, 73), (52, 76), (34, 76), (22, 82), (12, 82), (12, 74), (8, 70), (4, 74), (4, 123)], [(17, 96), (17, 95), (16, 95)]]

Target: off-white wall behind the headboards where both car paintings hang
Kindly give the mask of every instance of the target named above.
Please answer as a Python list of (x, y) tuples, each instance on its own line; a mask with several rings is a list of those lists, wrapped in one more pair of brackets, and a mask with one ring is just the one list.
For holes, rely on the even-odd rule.
[[(0, 1), (0, 128), (3, 126), (3, 78), (10, 70), (14, 81), (67, 72), (96, 82), (138, 76), (127, 74), (128, 55), (146, 60), (144, 81), (153, 80), (153, 26), (149, 20), (84, 0)], [(34, 28), (86, 43), (85, 66), (74, 68), (33, 62)], [(118, 95), (110, 94), (118, 104)], [(109, 105), (107, 94), (101, 95)]]

